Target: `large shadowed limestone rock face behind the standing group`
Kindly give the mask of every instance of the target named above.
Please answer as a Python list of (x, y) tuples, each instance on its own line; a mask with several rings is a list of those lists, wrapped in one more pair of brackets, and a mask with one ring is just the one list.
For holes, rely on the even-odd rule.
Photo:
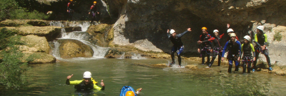
[[(207, 27), (210, 35), (213, 35), (214, 29), (222, 34), (229, 23), (239, 39), (243, 39), (245, 35), (254, 34), (254, 23), (269, 25), (273, 30), (286, 26), (285, 0), (116, 0), (108, 1), (108, 4), (111, 15), (118, 18), (113, 26), (113, 43), (134, 46), (143, 51), (170, 52), (173, 44), (167, 38), (167, 29), (174, 29), (179, 34), (191, 27), (192, 31), (181, 39), (184, 52), (196, 53), (196, 41), (199, 40), (202, 27)], [(226, 37), (221, 42), (223, 45)], [(282, 40), (278, 45), (269, 47), (285, 48), (283, 43)], [(285, 57), (282, 55), (284, 53), (270, 55), (271, 62), (285, 62), (279, 59)]]

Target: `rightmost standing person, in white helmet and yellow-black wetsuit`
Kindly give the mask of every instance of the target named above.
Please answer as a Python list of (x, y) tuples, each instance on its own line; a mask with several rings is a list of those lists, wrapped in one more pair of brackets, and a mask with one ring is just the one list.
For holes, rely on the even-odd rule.
[[(255, 46), (255, 58), (258, 59), (259, 56), (259, 52), (262, 51), (264, 56), (266, 57), (266, 61), (268, 63), (269, 66), (269, 70), (272, 71), (273, 69), (271, 68), (271, 63), (270, 63), (270, 58), (269, 58), (269, 53), (268, 53), (268, 49), (266, 47), (267, 45), (267, 35), (265, 33), (263, 33), (264, 31), (264, 27), (263, 26), (258, 26), (256, 28), (257, 34), (255, 34), (254, 36), (254, 40), (256, 43)], [(267, 52), (267, 53), (265, 53)], [(256, 69), (256, 63), (257, 60), (253, 62), (253, 69), (252, 71), (254, 72)]]

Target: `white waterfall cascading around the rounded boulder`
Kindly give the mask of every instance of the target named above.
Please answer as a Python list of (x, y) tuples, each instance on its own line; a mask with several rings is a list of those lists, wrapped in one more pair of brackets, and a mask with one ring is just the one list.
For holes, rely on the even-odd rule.
[[(82, 27), (82, 31), (74, 31), (70, 33), (66, 33), (65, 29), (61, 29), (61, 38), (58, 39), (76, 39), (78, 41), (81, 41), (82, 43), (90, 46), (92, 50), (94, 51), (93, 57), (89, 59), (96, 59), (96, 58), (104, 58), (106, 52), (108, 51), (109, 48), (104, 48), (100, 47), (97, 45), (94, 45), (90, 43), (88, 40), (89, 34), (86, 32), (88, 27), (90, 26), (90, 21), (73, 21), (73, 22), (66, 22), (66, 21), (51, 21), (50, 22), (51, 26), (58, 26), (58, 27), (68, 27), (68, 26), (80, 26)], [(54, 48), (52, 55), (56, 57), (57, 59), (62, 59), (59, 55), (59, 45), (57, 41), (53, 42), (54, 43)]]

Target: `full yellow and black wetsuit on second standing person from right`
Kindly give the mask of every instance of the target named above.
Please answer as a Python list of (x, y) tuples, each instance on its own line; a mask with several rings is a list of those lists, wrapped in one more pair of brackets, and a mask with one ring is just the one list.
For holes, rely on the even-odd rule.
[[(253, 60), (253, 57), (251, 56), (252, 55), (251, 52), (253, 53), (253, 56), (255, 56), (254, 47), (250, 42), (248, 42), (247, 44), (241, 45), (241, 53), (243, 53), (243, 57), (241, 58), (242, 64), (243, 64), (242, 73), (245, 73), (246, 66), (247, 66), (247, 73), (250, 73), (251, 63), (252, 63), (251, 60)], [(241, 54), (239, 54), (239, 57), (241, 57)]]

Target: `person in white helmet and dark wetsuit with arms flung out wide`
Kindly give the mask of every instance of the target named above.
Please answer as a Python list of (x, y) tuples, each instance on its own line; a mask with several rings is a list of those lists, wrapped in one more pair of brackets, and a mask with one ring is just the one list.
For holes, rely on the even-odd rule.
[(174, 29), (171, 29), (171, 30), (168, 29), (167, 36), (171, 40), (171, 42), (174, 44), (172, 49), (171, 49), (172, 63), (170, 65), (175, 64), (174, 53), (177, 52), (179, 67), (181, 67), (181, 55), (182, 55), (183, 50), (184, 50), (184, 46), (183, 46), (181, 37), (190, 31), (192, 31), (191, 28), (188, 28), (187, 31), (184, 31), (183, 33), (177, 34)]

